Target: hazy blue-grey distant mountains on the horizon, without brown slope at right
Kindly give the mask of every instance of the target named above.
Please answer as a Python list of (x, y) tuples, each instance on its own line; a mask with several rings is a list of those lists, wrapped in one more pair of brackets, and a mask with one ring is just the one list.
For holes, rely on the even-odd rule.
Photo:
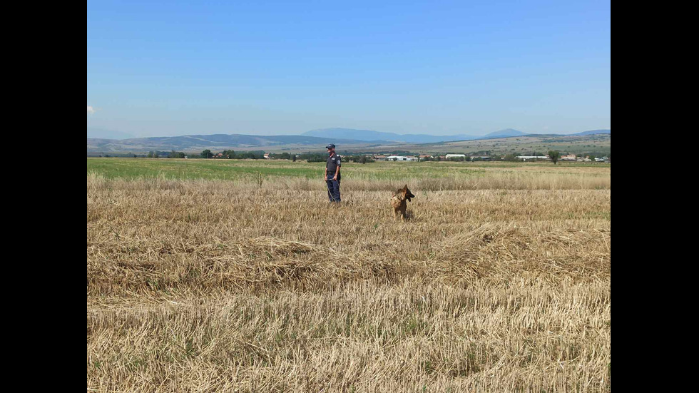
[[(611, 130), (583, 131), (567, 136), (588, 136), (598, 133), (611, 134)], [(90, 138), (90, 135), (105, 136)], [(352, 128), (321, 128), (307, 131), (302, 135), (255, 136), (245, 134), (213, 134), (188, 136), (158, 136), (151, 138), (124, 138), (126, 133), (88, 128), (87, 150), (95, 152), (143, 152), (148, 150), (178, 150), (196, 151), (204, 149), (240, 149), (256, 150), (274, 146), (293, 146), (294, 148), (309, 148), (321, 150), (327, 143), (335, 143), (342, 148), (361, 148), (377, 145), (396, 145), (400, 143), (440, 143), (451, 141), (471, 141), (476, 139), (509, 138), (513, 136), (543, 136), (542, 134), (526, 134), (507, 128), (484, 136), (469, 136), (465, 134), (450, 136), (433, 136), (426, 134), (397, 134), (372, 130), (357, 130)], [(551, 134), (549, 134), (551, 135)], [(561, 134), (553, 134), (563, 136)], [(110, 138), (111, 137), (111, 138)]]

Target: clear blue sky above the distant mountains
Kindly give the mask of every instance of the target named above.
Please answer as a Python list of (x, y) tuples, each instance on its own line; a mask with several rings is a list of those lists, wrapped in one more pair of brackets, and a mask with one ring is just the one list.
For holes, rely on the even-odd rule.
[(90, 1), (87, 126), (611, 129), (606, 1)]

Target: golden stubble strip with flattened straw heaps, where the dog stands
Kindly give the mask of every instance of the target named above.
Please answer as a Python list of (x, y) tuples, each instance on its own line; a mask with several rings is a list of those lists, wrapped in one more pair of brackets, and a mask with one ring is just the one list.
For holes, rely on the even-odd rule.
[(88, 293), (608, 275), (609, 190), (414, 191), (402, 222), (378, 191), (335, 206), (312, 191), (208, 185), (88, 191)]

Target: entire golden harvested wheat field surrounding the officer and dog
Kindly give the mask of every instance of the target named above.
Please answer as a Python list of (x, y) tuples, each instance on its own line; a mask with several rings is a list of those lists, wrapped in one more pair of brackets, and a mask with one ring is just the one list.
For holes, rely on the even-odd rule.
[(611, 389), (608, 165), (380, 165), (88, 173), (88, 392)]

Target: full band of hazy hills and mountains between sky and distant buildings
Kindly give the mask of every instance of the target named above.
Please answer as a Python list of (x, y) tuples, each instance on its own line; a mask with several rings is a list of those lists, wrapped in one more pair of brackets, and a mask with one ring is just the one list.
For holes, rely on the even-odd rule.
[[(584, 146), (585, 148), (611, 148), (611, 130), (583, 131), (576, 134), (525, 134), (511, 128), (474, 137), (466, 135), (429, 136), (419, 134), (400, 135), (352, 128), (322, 128), (303, 135), (255, 136), (245, 134), (213, 134), (187, 136), (160, 136), (151, 138), (87, 138), (88, 153), (146, 153), (149, 150), (188, 151), (201, 150), (268, 150), (268, 151), (323, 151), (327, 143), (335, 143), (340, 151), (448, 151), (468, 148), (472, 151), (541, 150), (545, 146)], [(601, 142), (594, 143), (594, 142)], [(388, 151), (387, 150), (387, 151)]]

